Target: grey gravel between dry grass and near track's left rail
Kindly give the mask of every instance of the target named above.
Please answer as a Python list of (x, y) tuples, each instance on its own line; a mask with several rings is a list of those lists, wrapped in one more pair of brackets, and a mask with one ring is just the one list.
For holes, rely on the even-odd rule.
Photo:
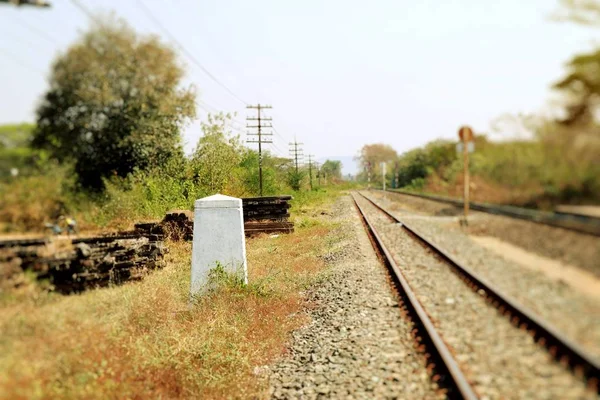
[(272, 367), (271, 396), (443, 398), (349, 196), (335, 215), (347, 232), (343, 257), (307, 294), (311, 323), (294, 332), (289, 355)]

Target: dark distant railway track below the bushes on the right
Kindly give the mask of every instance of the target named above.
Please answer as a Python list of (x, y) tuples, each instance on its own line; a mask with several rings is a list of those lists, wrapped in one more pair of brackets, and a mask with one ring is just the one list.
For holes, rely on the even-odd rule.
[[(379, 190), (381, 191), (381, 190)], [(430, 194), (412, 193), (404, 190), (386, 190), (386, 193), (403, 194), (407, 196), (418, 197), (427, 200), (433, 200), (440, 203), (451, 204), (462, 207), (462, 200), (453, 199), (444, 196), (435, 196)], [(482, 211), (489, 214), (503, 215), (511, 218), (523, 219), (539, 224), (568, 229), (588, 235), (600, 236), (600, 218), (585, 216), (580, 214), (571, 214), (564, 212), (547, 212), (531, 210), (528, 208), (504, 206), (498, 204), (471, 202), (470, 208), (476, 211)]]

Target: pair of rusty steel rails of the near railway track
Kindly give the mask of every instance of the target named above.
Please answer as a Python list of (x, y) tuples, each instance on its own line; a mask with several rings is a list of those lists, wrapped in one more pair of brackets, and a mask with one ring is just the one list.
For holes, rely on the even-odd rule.
[[(562, 365), (568, 367), (577, 377), (583, 378), (587, 382), (588, 387), (591, 388), (592, 391), (598, 393), (600, 381), (599, 365), (597, 361), (595, 361), (592, 356), (586, 354), (580, 346), (570, 341), (555, 328), (534, 315), (531, 311), (504, 295), (490, 282), (479, 277), (467, 266), (462, 265), (457, 261), (451, 254), (444, 251), (444, 249), (425, 239), (418, 230), (406, 224), (404, 221), (401, 221), (373, 200), (358, 192), (353, 194), (353, 198), (363, 217), (365, 226), (370, 233), (374, 246), (379, 249), (381, 258), (389, 267), (394, 280), (396, 280), (398, 285), (402, 288), (403, 293), (401, 293), (401, 295), (404, 302), (409, 309), (413, 321), (415, 321), (416, 326), (419, 327), (420, 337), (423, 338), (429, 353), (432, 354), (433, 359), (435, 360), (433, 361), (433, 364), (435, 364), (436, 373), (443, 377), (442, 384), (448, 389), (449, 397), (478, 398), (478, 393), (471, 385), (468, 374), (461, 371), (461, 368), (459, 367), (461, 363), (454, 358), (452, 349), (445, 344), (442, 339), (443, 336), (437, 332), (436, 324), (434, 323), (435, 321), (432, 321), (429, 317), (431, 310), (427, 309), (419, 302), (418, 296), (411, 288), (410, 279), (406, 278), (402, 269), (396, 264), (392, 254), (392, 247), (390, 247), (391, 243), (388, 243), (387, 245), (384, 243), (381, 232), (377, 231), (373, 221), (367, 216), (364, 207), (365, 204), (372, 205), (378, 212), (384, 215), (388, 221), (401, 226), (401, 228), (395, 228), (404, 230), (412, 239), (418, 241), (425, 247), (427, 251), (435, 254), (436, 257), (443, 261), (447, 267), (452, 269), (453, 273), (459, 276), (473, 292), (485, 299), (482, 299), (481, 301), (491, 303), (502, 314), (508, 316), (512, 325), (529, 332), (534, 337), (535, 341), (538, 344), (543, 345), (556, 361), (559, 361)], [(363, 201), (363, 206), (361, 206), (358, 201), (359, 199), (364, 199), (364, 201), (367, 201), (368, 203), (364, 203)]]

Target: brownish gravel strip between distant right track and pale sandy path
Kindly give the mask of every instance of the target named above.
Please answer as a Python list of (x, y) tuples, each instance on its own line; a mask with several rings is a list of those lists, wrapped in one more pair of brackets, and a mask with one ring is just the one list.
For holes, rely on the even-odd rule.
[[(372, 198), (395, 200), (404, 210), (435, 216), (462, 215), (462, 209), (399, 193), (369, 192)], [(494, 236), (541, 256), (558, 259), (600, 277), (600, 238), (516, 218), (472, 211), (469, 232)]]

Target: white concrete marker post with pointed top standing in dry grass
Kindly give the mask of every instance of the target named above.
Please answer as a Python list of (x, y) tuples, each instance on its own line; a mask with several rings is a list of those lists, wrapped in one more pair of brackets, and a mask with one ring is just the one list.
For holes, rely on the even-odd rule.
[(217, 263), (248, 283), (242, 199), (222, 194), (196, 200), (194, 204), (192, 295), (203, 290)]

